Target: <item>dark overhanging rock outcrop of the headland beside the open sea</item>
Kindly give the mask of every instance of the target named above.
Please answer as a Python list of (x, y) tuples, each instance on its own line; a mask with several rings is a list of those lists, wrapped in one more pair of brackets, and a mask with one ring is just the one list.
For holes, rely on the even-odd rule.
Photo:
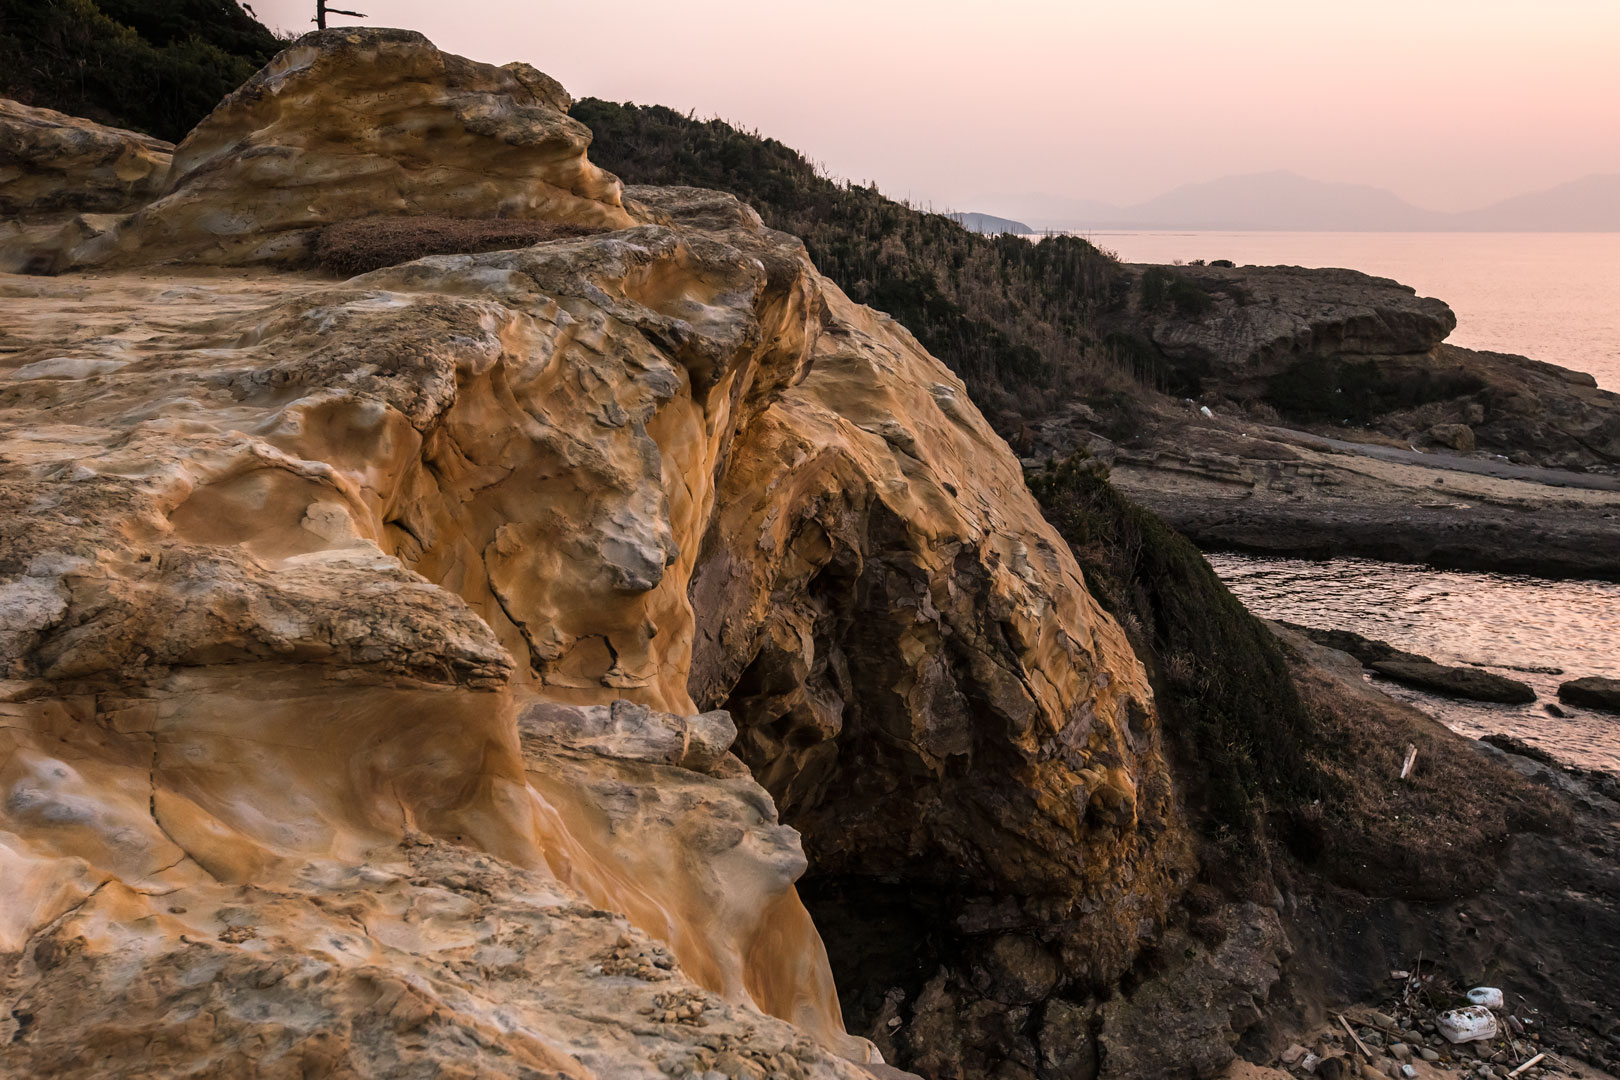
[(1439, 300), (1354, 270), (1126, 267), (1105, 319), (1176, 395), (1322, 432), (1614, 474), (1620, 395), (1555, 364), (1445, 345)]

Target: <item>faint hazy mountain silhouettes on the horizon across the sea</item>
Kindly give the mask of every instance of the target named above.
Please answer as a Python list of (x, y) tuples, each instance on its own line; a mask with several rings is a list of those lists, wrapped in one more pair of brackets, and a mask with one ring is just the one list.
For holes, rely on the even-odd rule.
[(1006, 198), (1037, 228), (1309, 232), (1620, 232), (1620, 175), (1592, 175), (1477, 210), (1426, 210), (1393, 191), (1291, 172), (1183, 185), (1134, 206), (1055, 196)]

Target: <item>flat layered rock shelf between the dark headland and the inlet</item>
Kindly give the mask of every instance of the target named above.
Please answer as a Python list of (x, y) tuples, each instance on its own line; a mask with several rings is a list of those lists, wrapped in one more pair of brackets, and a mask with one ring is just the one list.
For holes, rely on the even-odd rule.
[(1200, 547), (1620, 580), (1620, 478), (1349, 444), (1163, 406), (1113, 444), (1072, 411), (1030, 461), (1076, 447)]

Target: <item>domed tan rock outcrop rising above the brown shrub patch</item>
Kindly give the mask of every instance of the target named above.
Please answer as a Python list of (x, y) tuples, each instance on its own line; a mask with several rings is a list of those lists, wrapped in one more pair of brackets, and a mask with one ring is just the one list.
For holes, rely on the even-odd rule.
[(373, 215), (630, 225), (569, 105), (523, 63), (475, 63), (413, 31), (319, 31), (175, 147), (162, 198), (75, 222), (23, 266), (300, 264), (319, 227)]

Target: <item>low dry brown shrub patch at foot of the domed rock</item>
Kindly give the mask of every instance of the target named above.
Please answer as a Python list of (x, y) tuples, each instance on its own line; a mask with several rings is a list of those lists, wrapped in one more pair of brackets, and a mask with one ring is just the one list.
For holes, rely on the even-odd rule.
[(361, 217), (322, 228), (314, 261), (329, 274), (353, 277), (429, 254), (505, 251), (599, 232), (593, 225), (494, 217)]

